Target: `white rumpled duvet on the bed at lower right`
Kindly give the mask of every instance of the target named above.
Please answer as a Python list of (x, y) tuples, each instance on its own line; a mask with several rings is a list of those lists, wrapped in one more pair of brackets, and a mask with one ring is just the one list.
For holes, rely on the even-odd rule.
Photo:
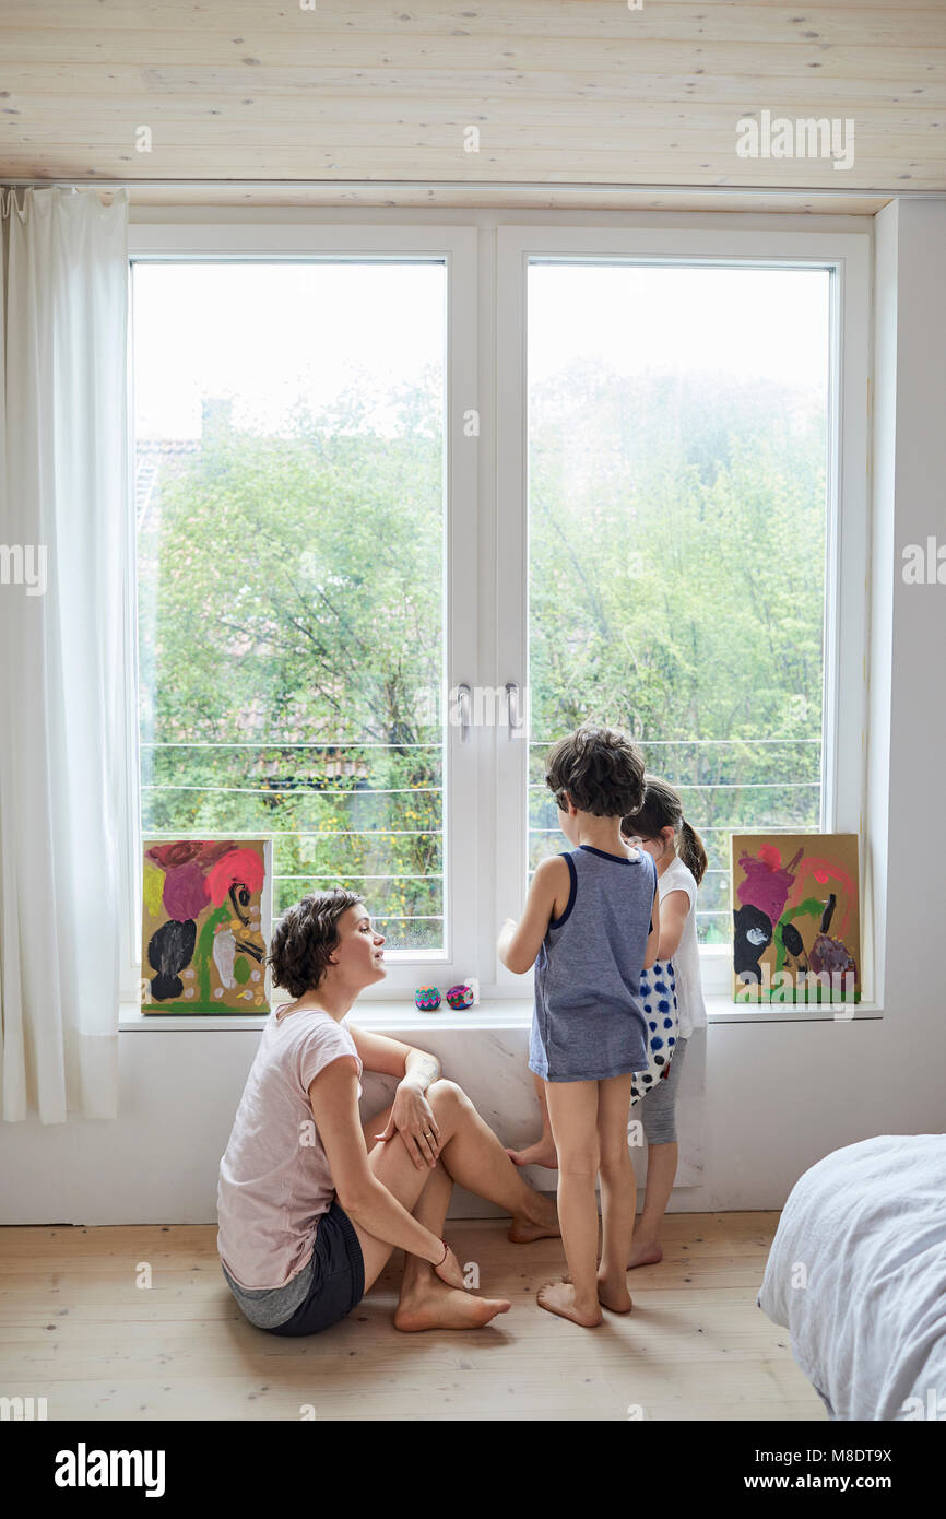
[(796, 1182), (759, 1308), (832, 1419), (946, 1419), (946, 1135), (882, 1135)]

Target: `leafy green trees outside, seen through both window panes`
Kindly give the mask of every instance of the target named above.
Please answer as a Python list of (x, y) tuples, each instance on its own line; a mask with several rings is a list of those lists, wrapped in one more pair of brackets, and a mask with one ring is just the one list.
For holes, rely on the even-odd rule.
[[(285, 439), (217, 430), (140, 535), (146, 832), (273, 832), (276, 910), (343, 881), (410, 946), (443, 913), (439, 406), (427, 377), (393, 437), (357, 396)], [(530, 864), (562, 846), (547, 743), (623, 726), (705, 832), (702, 937), (726, 939), (730, 829), (818, 823), (823, 598), (811, 399), (591, 368), (536, 387)]]

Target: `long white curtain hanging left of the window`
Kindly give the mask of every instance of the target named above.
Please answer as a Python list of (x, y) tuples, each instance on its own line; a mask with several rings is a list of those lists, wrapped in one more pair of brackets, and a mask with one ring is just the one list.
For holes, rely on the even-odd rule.
[(128, 196), (0, 190), (0, 1116), (114, 1118)]

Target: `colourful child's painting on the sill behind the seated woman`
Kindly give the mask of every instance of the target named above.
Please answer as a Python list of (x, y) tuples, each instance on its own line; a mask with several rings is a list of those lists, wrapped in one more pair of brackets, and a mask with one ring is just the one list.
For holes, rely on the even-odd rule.
[(141, 1010), (269, 1012), (269, 838), (144, 842)]

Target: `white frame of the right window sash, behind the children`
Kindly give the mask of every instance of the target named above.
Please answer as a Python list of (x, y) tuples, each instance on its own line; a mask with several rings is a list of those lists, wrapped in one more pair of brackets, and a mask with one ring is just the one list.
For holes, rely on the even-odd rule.
[[(743, 219), (732, 219), (733, 222)], [(603, 258), (650, 264), (747, 264), (821, 267), (832, 273), (828, 425), (828, 524), (821, 831), (856, 832), (864, 902), (864, 787), (867, 734), (869, 571), (869, 358), (870, 232), (732, 231), (677, 226), (516, 226), (498, 229), (497, 246), (497, 606), (498, 676), (525, 690), (528, 679), (527, 586), (527, 270), (533, 258)], [(835, 453), (837, 450), (837, 453)], [(837, 468), (835, 466), (837, 460)], [(528, 729), (524, 729), (528, 737)], [(539, 735), (545, 737), (545, 735)], [(527, 872), (525, 743), (497, 744), (497, 881), (500, 916), (518, 917)], [(867, 914), (861, 942), (864, 1000), (873, 995), (873, 946)], [(700, 949), (703, 987), (732, 993), (732, 951)], [(531, 984), (497, 962), (504, 996)], [(779, 1010), (791, 1016), (791, 1009)], [(802, 1010), (803, 1016), (806, 1015)]]

